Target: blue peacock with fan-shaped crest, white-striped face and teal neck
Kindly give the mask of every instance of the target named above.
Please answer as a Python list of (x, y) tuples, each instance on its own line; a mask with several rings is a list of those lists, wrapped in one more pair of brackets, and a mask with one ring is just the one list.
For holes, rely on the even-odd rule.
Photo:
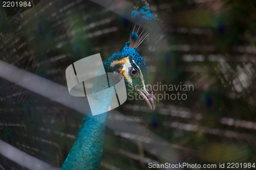
[[(149, 34), (145, 27), (150, 27), (150, 23), (157, 18), (145, 6), (133, 11), (132, 18), (134, 22), (129, 42), (125, 43), (121, 51), (110, 56), (103, 65), (106, 72), (121, 74), (127, 87), (136, 86), (136, 90), (144, 97), (148, 106), (155, 110), (156, 99), (152, 89), (149, 88), (147, 65), (136, 48)], [(98, 86), (97, 83), (96, 80), (94, 86)], [(108, 99), (105, 95), (101, 96), (102, 100)], [(84, 116), (73, 147), (62, 165), (63, 170), (99, 167), (108, 116), (108, 112), (94, 116), (89, 113)]]

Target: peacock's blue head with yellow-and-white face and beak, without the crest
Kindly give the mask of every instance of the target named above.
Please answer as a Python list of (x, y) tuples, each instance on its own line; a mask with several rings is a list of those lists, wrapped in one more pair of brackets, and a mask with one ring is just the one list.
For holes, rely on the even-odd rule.
[(135, 48), (126, 42), (121, 51), (110, 56), (105, 62), (106, 72), (118, 72), (124, 77), (125, 85), (143, 96), (147, 105), (155, 110), (156, 98), (151, 85), (148, 83), (148, 69), (145, 61)]

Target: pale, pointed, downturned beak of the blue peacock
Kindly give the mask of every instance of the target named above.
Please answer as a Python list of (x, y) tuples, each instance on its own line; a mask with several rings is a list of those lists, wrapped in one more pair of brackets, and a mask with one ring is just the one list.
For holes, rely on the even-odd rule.
[(154, 95), (154, 91), (152, 90), (151, 85), (146, 85), (143, 88), (136, 88), (139, 94), (143, 97), (147, 105), (151, 108), (151, 110), (155, 110), (156, 108), (156, 98)]

